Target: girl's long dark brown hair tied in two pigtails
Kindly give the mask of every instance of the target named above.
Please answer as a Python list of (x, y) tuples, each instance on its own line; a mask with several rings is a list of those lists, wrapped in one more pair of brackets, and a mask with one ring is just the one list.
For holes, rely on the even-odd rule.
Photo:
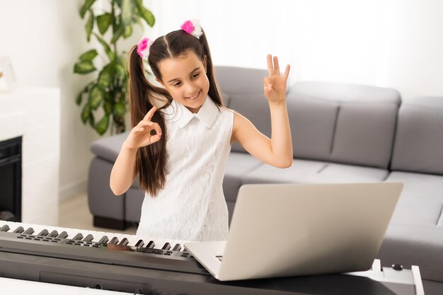
[[(214, 79), (212, 58), (205, 32), (200, 36), (200, 39), (185, 33), (184, 30), (175, 30), (157, 38), (149, 49), (148, 63), (152, 73), (156, 76), (156, 79), (161, 81), (162, 77), (159, 71), (159, 62), (163, 59), (180, 57), (180, 55), (186, 54), (189, 50), (192, 50), (202, 62), (206, 57), (207, 78), (209, 80), (208, 95), (217, 106), (221, 107), (223, 105), (222, 97), (220, 96), (217, 82)], [(156, 105), (154, 101), (159, 100), (161, 103), (164, 103), (166, 98), (166, 105), (159, 108), (162, 109), (171, 105), (173, 98), (165, 88), (154, 86), (146, 79), (144, 63), (142, 57), (137, 53), (137, 45), (132, 47), (130, 51), (128, 64), (130, 74), (128, 79), (128, 97), (131, 125), (132, 128), (134, 128), (143, 120), (146, 112)], [(166, 153), (167, 130), (161, 112), (156, 111), (151, 121), (160, 125), (162, 131), (161, 139), (155, 144), (149, 144), (149, 146), (138, 149), (135, 170), (136, 173), (139, 173), (140, 187), (154, 197), (166, 183), (166, 174), (168, 173), (166, 160), (168, 155)]]

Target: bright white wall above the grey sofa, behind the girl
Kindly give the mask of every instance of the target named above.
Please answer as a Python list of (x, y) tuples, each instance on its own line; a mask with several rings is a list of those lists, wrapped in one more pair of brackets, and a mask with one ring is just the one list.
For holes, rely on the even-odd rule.
[(199, 18), (214, 64), (292, 65), (292, 83), (323, 80), (443, 96), (443, 1), (162, 0), (154, 37)]

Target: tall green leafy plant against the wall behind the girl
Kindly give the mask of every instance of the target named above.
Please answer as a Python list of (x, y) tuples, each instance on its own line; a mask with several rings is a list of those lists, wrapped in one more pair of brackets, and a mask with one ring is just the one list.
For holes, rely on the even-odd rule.
[[(142, 0), (106, 0), (110, 11), (94, 15), (91, 6), (96, 0), (85, 0), (80, 9), (80, 16), (86, 20), (86, 37), (96, 37), (103, 47), (107, 64), (102, 69), (96, 69), (93, 60), (99, 55), (96, 49), (88, 50), (80, 55), (74, 65), (74, 73), (89, 74), (99, 71), (93, 81), (89, 82), (76, 98), (77, 105), (83, 105), (81, 121), (103, 135), (110, 127), (110, 133), (125, 131), (125, 114), (127, 110), (127, 72), (125, 61), (127, 52), (117, 50), (117, 41), (132, 35), (134, 25), (142, 21), (150, 27), (155, 23), (154, 15), (143, 6)], [(112, 30), (108, 32), (108, 30)], [(108, 39), (105, 40), (105, 33)], [(84, 98), (87, 98), (84, 100)], [(100, 108), (103, 110), (100, 110)], [(102, 115), (97, 120), (98, 115)]]

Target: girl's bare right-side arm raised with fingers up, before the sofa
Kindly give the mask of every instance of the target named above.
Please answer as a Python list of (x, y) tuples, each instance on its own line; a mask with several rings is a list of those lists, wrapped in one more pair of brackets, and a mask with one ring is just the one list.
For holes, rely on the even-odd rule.
[(255, 126), (237, 112), (234, 113), (232, 141), (238, 141), (249, 154), (260, 161), (278, 168), (292, 165), (292, 138), (286, 107), (286, 84), (289, 64), (284, 74), (280, 74), (277, 57), (267, 55), (269, 76), (265, 77), (265, 96), (271, 112), (271, 139), (262, 134)]

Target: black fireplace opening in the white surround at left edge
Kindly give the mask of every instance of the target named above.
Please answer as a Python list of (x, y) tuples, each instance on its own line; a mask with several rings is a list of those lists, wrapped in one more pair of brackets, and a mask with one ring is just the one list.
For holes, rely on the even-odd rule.
[(22, 137), (0, 141), (0, 220), (21, 222)]

